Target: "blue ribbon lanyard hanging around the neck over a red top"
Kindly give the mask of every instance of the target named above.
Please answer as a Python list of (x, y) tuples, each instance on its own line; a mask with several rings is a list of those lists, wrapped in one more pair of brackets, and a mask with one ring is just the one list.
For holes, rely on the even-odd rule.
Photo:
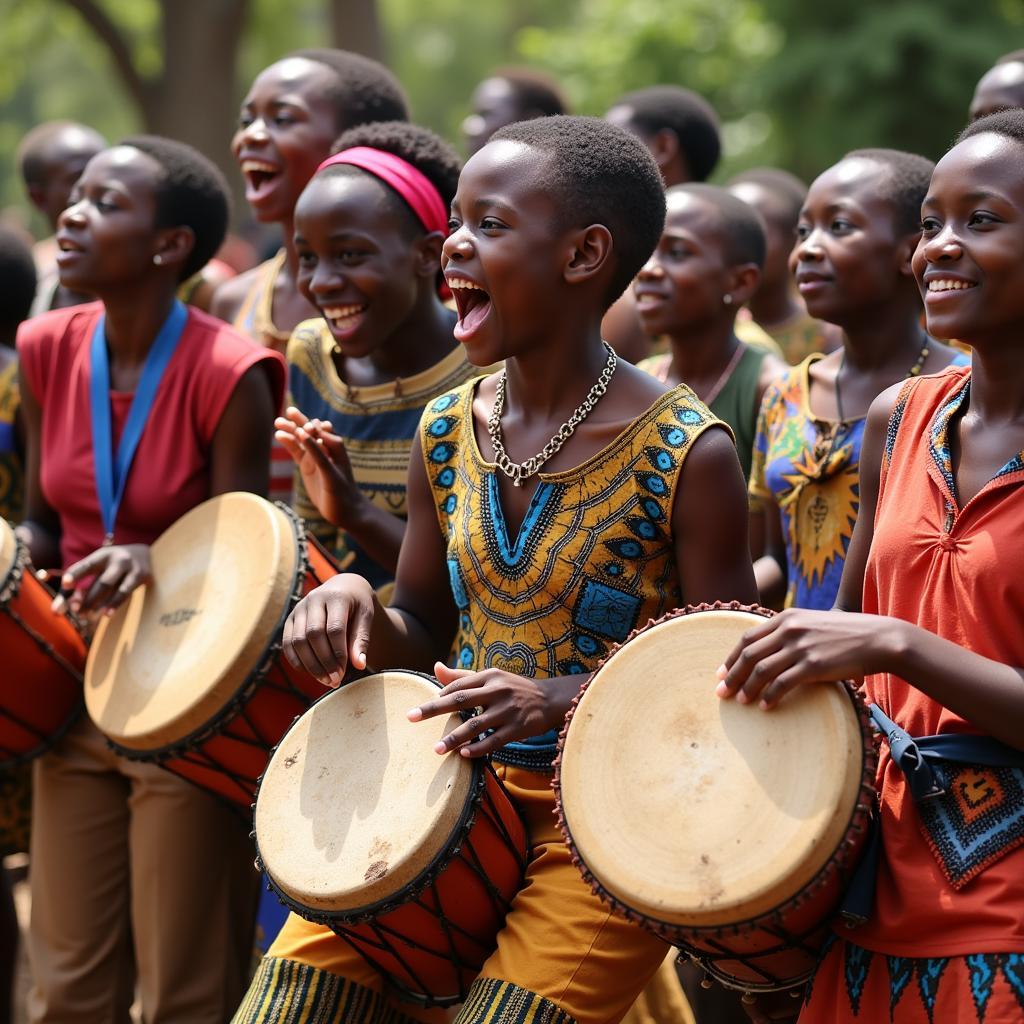
[(92, 455), (96, 466), (96, 497), (99, 514), (103, 520), (104, 544), (114, 541), (114, 524), (124, 498), (128, 471), (131, 469), (135, 450), (138, 447), (153, 402), (160, 388), (160, 381), (170, 362), (178, 339), (184, 330), (188, 310), (177, 299), (157, 340), (150, 349), (142, 367), (135, 396), (128, 411), (128, 419), (121, 433), (117, 455), (111, 429), (111, 367), (106, 356), (105, 316), (101, 313), (92, 332), (91, 370), (89, 378), (89, 407), (92, 412)]

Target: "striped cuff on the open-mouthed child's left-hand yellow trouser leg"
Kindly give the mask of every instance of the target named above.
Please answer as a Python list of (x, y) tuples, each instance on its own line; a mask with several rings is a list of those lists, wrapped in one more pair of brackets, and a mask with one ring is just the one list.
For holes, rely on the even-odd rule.
[(362, 985), (297, 961), (264, 956), (231, 1024), (415, 1022)]

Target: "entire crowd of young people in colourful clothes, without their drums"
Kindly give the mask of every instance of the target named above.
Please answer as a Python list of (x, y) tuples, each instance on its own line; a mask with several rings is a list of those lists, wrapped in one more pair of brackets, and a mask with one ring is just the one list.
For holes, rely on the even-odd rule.
[[(88, 621), (200, 502), (285, 497), (343, 569), (295, 608), (286, 656), (335, 686), (435, 676), (413, 722), (477, 709), (437, 753), (490, 760), (530, 852), (459, 1024), (690, 1019), (666, 943), (572, 863), (556, 737), (649, 618), (784, 606), (723, 665), (722, 699), (770, 715), (862, 678), (910, 736), (970, 737), (972, 758), (926, 816), (883, 745), (868, 922), (802, 999), (688, 985), (697, 1021), (1020, 1020), (1022, 92), (1011, 54), (937, 165), (857, 150), (809, 188), (718, 187), (714, 112), (683, 89), (582, 118), (499, 73), (463, 165), (386, 69), (304, 50), (257, 76), (231, 140), (282, 248), (226, 281), (209, 161), (41, 132), (23, 169), (57, 280), (25, 319), (36, 273), (0, 237), (0, 511)], [(12, 825), (26, 782), (0, 777)], [(296, 914), (252, 977), (247, 827), (87, 719), (32, 790), (34, 1024), (124, 1024), (136, 999), (147, 1024), (452, 1019)]]

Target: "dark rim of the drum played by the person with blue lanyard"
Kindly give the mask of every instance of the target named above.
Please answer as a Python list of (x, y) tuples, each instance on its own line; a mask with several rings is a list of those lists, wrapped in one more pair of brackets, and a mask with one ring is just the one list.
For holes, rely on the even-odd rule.
[[(259, 496), (257, 495), (256, 497)], [(190, 751), (197, 750), (208, 739), (212, 739), (217, 735), (225, 724), (233, 721), (263, 681), (266, 674), (273, 667), (278, 655), (281, 653), (281, 633), (285, 628), (288, 616), (299, 601), (302, 600), (302, 591), (305, 586), (306, 574), (309, 571), (309, 558), (306, 555), (306, 545), (308, 543), (314, 544), (329, 561), (337, 564), (334, 556), (305, 528), (301, 518), (293, 509), (289, 508), (284, 502), (268, 502), (268, 504), (273, 505), (280, 511), (284, 512), (292, 527), (292, 539), (295, 544), (295, 579), (292, 581), (291, 592), (282, 606), (281, 615), (274, 625), (273, 631), (269, 634), (258, 660), (243, 678), (230, 698), (224, 701), (213, 717), (207, 719), (202, 725), (197, 726), (191, 732), (171, 742), (163, 743), (160, 746), (126, 746), (124, 743), (104, 733), (108, 745), (120, 757), (126, 758), (129, 761), (142, 761), (151, 764), (163, 764), (167, 761), (173, 761)], [(321, 698), (317, 697), (316, 699)], [(276, 746), (272, 750), (276, 750)]]

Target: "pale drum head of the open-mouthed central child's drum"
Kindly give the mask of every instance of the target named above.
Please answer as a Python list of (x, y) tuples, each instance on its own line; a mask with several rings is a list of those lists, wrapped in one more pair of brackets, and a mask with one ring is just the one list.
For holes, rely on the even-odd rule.
[(256, 798), (267, 874), (302, 907), (357, 914), (398, 898), (450, 844), (479, 765), (433, 746), (458, 715), (410, 722), (437, 684), (368, 676), (316, 701), (278, 745)]

